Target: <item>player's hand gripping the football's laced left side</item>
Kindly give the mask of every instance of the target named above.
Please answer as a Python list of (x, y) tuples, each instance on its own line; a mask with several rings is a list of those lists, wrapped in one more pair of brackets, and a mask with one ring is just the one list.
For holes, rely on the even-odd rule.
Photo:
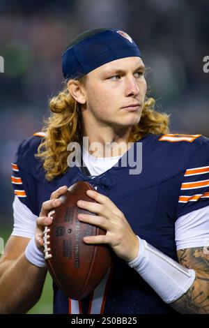
[(45, 226), (52, 224), (52, 217), (50, 217), (50, 211), (55, 207), (61, 205), (61, 200), (58, 198), (68, 190), (67, 186), (62, 186), (56, 191), (54, 191), (50, 197), (50, 200), (42, 203), (41, 211), (39, 217), (36, 221), (36, 246), (42, 251), (43, 246), (43, 230)]

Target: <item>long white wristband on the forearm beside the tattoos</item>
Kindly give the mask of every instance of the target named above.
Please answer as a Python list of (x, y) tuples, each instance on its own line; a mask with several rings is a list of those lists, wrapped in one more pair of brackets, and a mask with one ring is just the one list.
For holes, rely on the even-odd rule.
[[(138, 237), (138, 236), (137, 236)], [(195, 271), (187, 269), (139, 238), (137, 258), (127, 262), (166, 303), (176, 301), (194, 283)]]

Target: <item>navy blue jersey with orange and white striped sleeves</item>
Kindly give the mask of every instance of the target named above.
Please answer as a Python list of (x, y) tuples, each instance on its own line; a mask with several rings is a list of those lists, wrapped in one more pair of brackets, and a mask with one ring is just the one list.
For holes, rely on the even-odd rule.
[[(60, 186), (88, 181), (120, 209), (132, 230), (162, 253), (178, 261), (175, 222), (179, 216), (209, 205), (209, 140), (201, 135), (147, 134), (135, 142), (111, 169), (88, 177), (79, 167), (69, 167), (49, 182), (40, 160), (34, 157), (42, 138), (24, 140), (13, 163), (13, 186), (21, 202), (39, 215), (42, 202)], [(137, 157), (142, 143), (142, 171), (130, 174), (130, 152)], [(101, 297), (102, 295), (102, 297)], [(88, 313), (99, 302), (102, 313), (176, 313), (130, 268), (115, 257), (114, 267), (95, 292), (79, 302), (79, 312)], [(72, 300), (54, 284), (54, 313), (71, 313)]]

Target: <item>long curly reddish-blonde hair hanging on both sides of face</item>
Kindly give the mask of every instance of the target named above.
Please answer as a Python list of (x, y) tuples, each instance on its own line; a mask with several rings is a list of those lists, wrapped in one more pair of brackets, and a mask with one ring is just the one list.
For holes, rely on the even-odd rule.
[[(85, 82), (85, 77), (79, 79)], [(45, 137), (38, 147), (36, 157), (43, 162), (45, 177), (52, 181), (68, 169), (67, 158), (72, 151), (67, 150), (70, 142), (82, 144), (82, 114), (79, 103), (68, 91), (68, 81), (57, 96), (49, 99), (50, 117), (45, 120), (42, 131)], [(136, 142), (147, 133), (161, 134), (169, 132), (169, 115), (157, 112), (155, 100), (146, 96), (141, 119), (132, 128), (128, 142)]]

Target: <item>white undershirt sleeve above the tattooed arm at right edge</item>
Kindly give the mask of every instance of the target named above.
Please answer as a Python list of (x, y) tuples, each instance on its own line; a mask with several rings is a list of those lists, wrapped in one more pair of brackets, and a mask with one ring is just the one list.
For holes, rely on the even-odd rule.
[(180, 216), (175, 223), (176, 249), (208, 246), (209, 206)]

